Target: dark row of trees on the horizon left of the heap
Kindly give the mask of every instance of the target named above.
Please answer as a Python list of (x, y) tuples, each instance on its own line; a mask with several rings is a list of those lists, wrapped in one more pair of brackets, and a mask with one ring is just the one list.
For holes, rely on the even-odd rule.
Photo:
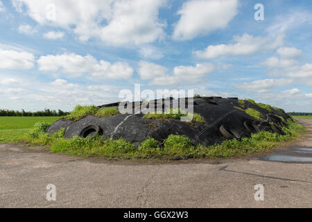
[(0, 117), (62, 117), (69, 114), (62, 110), (44, 109), (37, 112), (26, 112), (25, 110), (0, 110)]

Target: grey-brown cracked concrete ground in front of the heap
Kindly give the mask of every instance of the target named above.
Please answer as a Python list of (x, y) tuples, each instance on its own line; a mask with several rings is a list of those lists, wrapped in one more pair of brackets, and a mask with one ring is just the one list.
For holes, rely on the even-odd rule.
[[(312, 207), (312, 120), (298, 121), (310, 130), (300, 142), (227, 160), (109, 162), (2, 144), (0, 207)], [(264, 200), (254, 200), (257, 184)]]

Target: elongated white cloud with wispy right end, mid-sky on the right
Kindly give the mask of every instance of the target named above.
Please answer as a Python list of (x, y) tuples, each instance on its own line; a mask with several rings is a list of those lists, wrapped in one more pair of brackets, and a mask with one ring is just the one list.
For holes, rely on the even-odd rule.
[(208, 46), (203, 51), (194, 51), (194, 54), (198, 58), (217, 58), (218, 56), (244, 56), (250, 55), (252, 53), (256, 53), (257, 51), (263, 49), (269, 49), (272, 47), (272, 41), (274, 46), (279, 46), (276, 43), (277, 41), (271, 37), (254, 37), (252, 35), (244, 34), (244, 35), (236, 35), (233, 37), (234, 44), (218, 44)]

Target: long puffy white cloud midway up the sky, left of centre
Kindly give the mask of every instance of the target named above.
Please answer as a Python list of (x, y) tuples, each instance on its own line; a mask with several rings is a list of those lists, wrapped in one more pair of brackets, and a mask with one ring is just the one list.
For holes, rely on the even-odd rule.
[(37, 60), (40, 71), (62, 71), (70, 77), (91, 74), (92, 78), (131, 78), (133, 69), (127, 62), (110, 62), (96, 60), (93, 56), (80, 56), (75, 53), (41, 56)]

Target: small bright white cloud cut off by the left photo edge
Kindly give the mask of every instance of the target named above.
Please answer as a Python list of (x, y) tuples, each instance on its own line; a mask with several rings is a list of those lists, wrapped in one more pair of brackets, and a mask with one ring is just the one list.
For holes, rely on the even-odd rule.
[(34, 64), (35, 56), (31, 53), (0, 48), (0, 69), (31, 69)]

